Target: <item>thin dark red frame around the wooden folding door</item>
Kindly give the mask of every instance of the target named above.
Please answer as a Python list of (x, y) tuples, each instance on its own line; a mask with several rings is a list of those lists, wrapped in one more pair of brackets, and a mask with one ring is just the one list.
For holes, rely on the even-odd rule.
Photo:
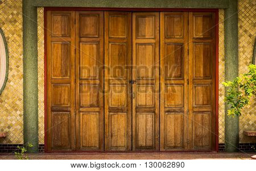
[[(44, 152), (52, 152), (47, 151), (47, 11), (188, 11), (188, 12), (213, 12), (215, 14), (215, 40), (216, 40), (216, 56), (215, 56), (215, 72), (216, 72), (216, 94), (215, 94), (215, 100), (216, 100), (216, 132), (215, 132), (215, 138), (216, 138), (216, 145), (213, 149), (213, 151), (218, 152), (218, 9), (166, 9), (166, 8), (160, 8), (160, 9), (153, 9), (153, 8), (106, 8), (106, 7), (44, 7)], [(77, 151), (71, 151), (71, 152), (77, 152)], [(79, 151), (83, 152), (83, 151)], [(86, 151), (86, 152), (95, 152), (95, 151)], [(98, 152), (98, 151), (97, 151)], [(105, 151), (102, 151), (105, 152)], [(134, 152), (134, 151), (129, 151)], [(156, 152), (156, 151), (151, 151)], [(158, 151), (163, 152), (163, 151)], [(167, 151), (167, 152), (185, 152), (185, 151)], [(194, 151), (193, 151), (194, 152)], [(196, 152), (196, 151), (195, 151)]]

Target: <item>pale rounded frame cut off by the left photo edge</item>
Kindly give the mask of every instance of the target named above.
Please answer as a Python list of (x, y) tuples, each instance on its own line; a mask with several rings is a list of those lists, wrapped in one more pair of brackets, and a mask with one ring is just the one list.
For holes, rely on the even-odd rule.
[(9, 72), (9, 54), (8, 54), (7, 42), (1, 28), (0, 28), (0, 65), (1, 65), (0, 66), (0, 95), (1, 95), (3, 92), (3, 89), (5, 89), (6, 82), (8, 79), (8, 72)]

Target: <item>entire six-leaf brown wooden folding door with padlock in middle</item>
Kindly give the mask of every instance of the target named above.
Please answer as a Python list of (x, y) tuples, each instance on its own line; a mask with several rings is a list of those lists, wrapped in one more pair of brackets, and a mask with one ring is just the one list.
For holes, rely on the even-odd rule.
[(214, 17), (47, 11), (47, 151), (213, 149)]

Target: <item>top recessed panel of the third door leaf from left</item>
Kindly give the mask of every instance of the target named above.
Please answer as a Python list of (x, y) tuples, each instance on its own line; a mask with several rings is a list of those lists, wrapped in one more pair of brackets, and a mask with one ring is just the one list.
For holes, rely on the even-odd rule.
[(109, 37), (124, 38), (127, 36), (127, 15), (109, 16)]

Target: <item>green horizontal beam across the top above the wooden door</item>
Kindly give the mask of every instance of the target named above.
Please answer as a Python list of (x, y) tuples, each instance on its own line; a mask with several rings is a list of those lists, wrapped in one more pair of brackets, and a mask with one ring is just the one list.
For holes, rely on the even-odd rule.
[(228, 8), (228, 0), (34, 0), (40, 7)]

